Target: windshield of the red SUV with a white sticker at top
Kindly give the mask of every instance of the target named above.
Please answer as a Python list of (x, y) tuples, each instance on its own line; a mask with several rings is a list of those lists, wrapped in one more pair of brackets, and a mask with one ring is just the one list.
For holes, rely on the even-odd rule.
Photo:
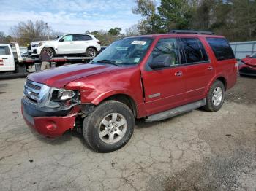
[(153, 42), (153, 38), (135, 37), (121, 39), (110, 44), (92, 62), (116, 63), (116, 65), (135, 65), (140, 63)]

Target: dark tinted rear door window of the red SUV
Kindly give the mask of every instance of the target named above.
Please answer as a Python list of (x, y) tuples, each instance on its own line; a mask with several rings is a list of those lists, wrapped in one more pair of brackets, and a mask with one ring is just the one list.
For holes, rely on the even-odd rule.
[(181, 38), (184, 49), (184, 63), (197, 63), (208, 61), (208, 56), (203, 44), (197, 38)]

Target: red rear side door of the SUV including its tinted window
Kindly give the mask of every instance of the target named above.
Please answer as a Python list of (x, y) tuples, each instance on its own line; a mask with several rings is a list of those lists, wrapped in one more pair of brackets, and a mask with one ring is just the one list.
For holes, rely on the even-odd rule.
[(180, 38), (183, 50), (183, 64), (187, 66), (187, 99), (189, 102), (206, 97), (209, 82), (214, 77), (215, 69), (208, 58), (206, 49), (196, 37)]

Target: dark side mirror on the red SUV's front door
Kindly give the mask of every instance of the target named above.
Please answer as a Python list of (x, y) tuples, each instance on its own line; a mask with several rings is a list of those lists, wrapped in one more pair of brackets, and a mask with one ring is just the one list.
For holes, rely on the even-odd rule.
[(161, 69), (170, 67), (170, 61), (170, 55), (159, 55), (153, 58), (152, 61), (148, 63), (148, 65), (151, 67), (151, 69)]

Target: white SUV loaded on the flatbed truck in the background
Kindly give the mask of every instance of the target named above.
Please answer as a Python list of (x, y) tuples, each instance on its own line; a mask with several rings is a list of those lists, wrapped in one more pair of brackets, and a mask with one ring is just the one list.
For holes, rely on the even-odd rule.
[(83, 54), (95, 57), (100, 51), (100, 42), (91, 34), (64, 34), (51, 41), (31, 42), (28, 52), (32, 55), (40, 55), (42, 52), (48, 55)]

